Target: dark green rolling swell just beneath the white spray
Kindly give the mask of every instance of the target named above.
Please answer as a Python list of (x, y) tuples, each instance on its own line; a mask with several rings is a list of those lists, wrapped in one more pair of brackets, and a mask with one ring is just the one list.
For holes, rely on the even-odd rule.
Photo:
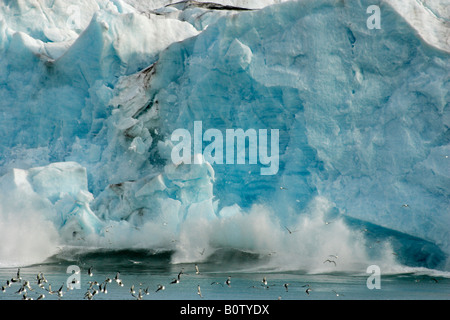
[[(106, 249), (66, 246), (60, 252), (37, 265), (51, 268), (61, 265), (77, 265), (87, 269), (94, 266), (100, 272), (132, 271), (134, 273), (170, 273), (181, 269), (193, 270), (196, 262), (174, 263), (175, 251), (151, 249)], [(361, 264), (361, 269), (292, 269), (275, 265), (276, 253), (261, 254), (235, 248), (218, 248), (212, 254), (199, 262), (202, 274), (222, 273), (261, 273), (261, 274), (291, 274), (291, 275), (329, 275), (333, 277), (367, 277), (367, 266)], [(450, 279), (450, 272), (424, 267), (409, 267), (401, 264), (384, 264), (380, 269), (381, 276), (389, 278), (414, 278), (415, 281)], [(188, 271), (186, 273), (189, 273)], [(417, 280), (419, 279), (419, 280)]]

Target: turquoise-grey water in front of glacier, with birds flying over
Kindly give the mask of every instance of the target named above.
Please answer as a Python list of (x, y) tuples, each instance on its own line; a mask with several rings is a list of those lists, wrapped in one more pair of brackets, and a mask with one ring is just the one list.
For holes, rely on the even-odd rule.
[[(243, 252), (228, 252), (222, 259), (197, 263), (172, 264), (171, 253), (150, 253), (148, 251), (93, 251), (79, 254), (73, 260), (55, 256), (42, 264), (22, 266), (20, 282), (11, 283), (1, 300), (21, 300), (19, 292), (25, 281), (29, 281), (26, 298), (36, 300), (84, 300), (86, 292), (94, 294), (92, 300), (450, 300), (450, 278), (446, 272), (417, 269), (408, 273), (381, 274), (379, 289), (369, 289), (370, 274), (327, 273), (310, 274), (298, 271), (263, 272), (256, 266), (263, 263), (257, 256)], [(80, 268), (79, 274), (67, 273), (73, 266)], [(92, 275), (88, 269), (92, 267)], [(260, 268), (259, 268), (260, 269)], [(17, 277), (18, 268), (0, 269), (0, 283)], [(47, 282), (38, 286), (37, 275), (44, 275)], [(70, 272), (70, 271), (69, 271)], [(114, 277), (119, 272), (123, 283), (120, 286)], [(171, 283), (180, 274), (178, 283)], [(69, 290), (67, 279), (75, 276), (80, 288)], [(226, 280), (230, 277), (230, 285)], [(107, 278), (107, 292), (101, 292), (99, 284)], [(267, 284), (262, 281), (266, 279)], [(98, 284), (91, 286), (90, 282)], [(57, 293), (62, 287), (62, 296)], [(287, 289), (285, 284), (288, 284)], [(159, 285), (164, 290), (158, 290)], [(134, 288), (134, 294), (130, 289)], [(201, 296), (198, 294), (200, 286)], [(102, 286), (103, 287), (103, 286)], [(310, 288), (308, 292), (306, 289)], [(146, 294), (148, 292), (148, 294)]]

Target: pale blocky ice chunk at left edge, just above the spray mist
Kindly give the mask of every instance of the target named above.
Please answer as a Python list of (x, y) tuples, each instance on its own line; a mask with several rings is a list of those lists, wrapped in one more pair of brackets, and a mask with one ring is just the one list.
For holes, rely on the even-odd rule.
[(50, 230), (58, 230), (54, 247), (62, 243), (61, 239), (98, 234), (102, 226), (89, 206), (93, 196), (87, 190), (86, 169), (77, 163), (14, 169), (0, 178), (0, 185), (2, 190), (8, 190), (1, 195), (2, 214), (8, 217), (17, 210), (30, 218), (38, 215), (38, 219), (51, 226)]

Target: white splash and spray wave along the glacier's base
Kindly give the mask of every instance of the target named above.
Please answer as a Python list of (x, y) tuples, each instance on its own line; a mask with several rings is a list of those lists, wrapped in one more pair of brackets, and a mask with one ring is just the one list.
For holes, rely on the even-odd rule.
[[(45, 234), (46, 229), (30, 227), (23, 241), (15, 243), (22, 244), (16, 251), (22, 255), (28, 252), (35, 260), (18, 263), (13, 259), (14, 252), (3, 248), (0, 267), (64, 263), (163, 271), (201, 263), (209, 272), (357, 275), (366, 274), (370, 265), (395, 274), (425, 272), (445, 261), (446, 256), (432, 243), (351, 219), (332, 208), (326, 199), (318, 197), (289, 224), (263, 205), (255, 205), (249, 211), (238, 206), (226, 208), (222, 217), (216, 219), (187, 216), (176, 228), (163, 226), (159, 221), (139, 228), (126, 221), (108, 221), (109, 232), (76, 239), (73, 242), (77, 244), (61, 245), (49, 238), (40, 246), (38, 255), (30, 243)], [(10, 234), (25, 223), (8, 224)], [(9, 259), (5, 259), (7, 253)]]

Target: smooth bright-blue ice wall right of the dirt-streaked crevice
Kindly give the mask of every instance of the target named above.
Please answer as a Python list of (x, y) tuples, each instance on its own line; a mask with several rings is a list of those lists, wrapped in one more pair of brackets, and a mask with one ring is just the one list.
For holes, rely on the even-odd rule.
[(368, 29), (368, 5), (291, 2), (221, 19), (165, 53), (150, 105), (165, 134), (194, 120), (280, 129), (279, 175), (214, 166), (223, 203), (273, 199), (287, 218), (319, 194), (448, 248), (449, 57), (388, 5)]

